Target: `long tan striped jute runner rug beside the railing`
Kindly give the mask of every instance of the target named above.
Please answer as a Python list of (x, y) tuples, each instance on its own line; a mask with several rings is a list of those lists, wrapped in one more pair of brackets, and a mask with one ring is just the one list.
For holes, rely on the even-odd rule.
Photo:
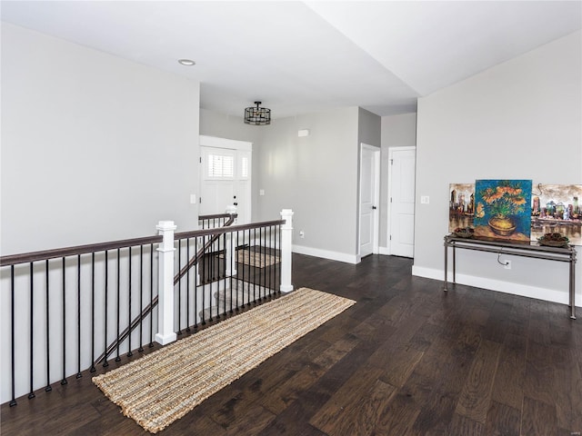
[(156, 433), (353, 304), (301, 288), (98, 375), (93, 382), (125, 416)]

